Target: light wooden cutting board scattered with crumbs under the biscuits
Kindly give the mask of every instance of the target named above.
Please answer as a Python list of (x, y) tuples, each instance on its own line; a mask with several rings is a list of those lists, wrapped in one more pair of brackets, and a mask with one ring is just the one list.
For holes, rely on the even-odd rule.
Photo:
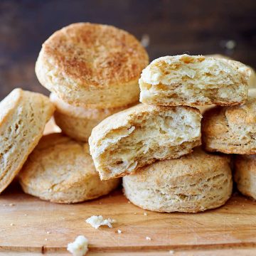
[[(117, 223), (95, 230), (85, 223), (91, 215)], [(153, 213), (129, 203), (119, 189), (60, 205), (24, 194), (14, 181), (0, 196), (0, 231), (0, 255), (69, 255), (66, 246), (78, 235), (89, 239), (88, 255), (256, 255), (256, 203), (234, 195), (205, 213)]]

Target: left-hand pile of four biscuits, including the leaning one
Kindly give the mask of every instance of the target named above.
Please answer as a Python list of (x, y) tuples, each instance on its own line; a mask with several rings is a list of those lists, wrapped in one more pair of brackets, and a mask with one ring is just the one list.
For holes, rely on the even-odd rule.
[[(23, 191), (55, 203), (116, 188), (119, 178), (100, 180), (87, 140), (102, 119), (139, 102), (148, 63), (139, 41), (113, 26), (75, 23), (53, 33), (36, 62), (50, 99), (16, 89), (1, 102), (0, 192), (16, 174)], [(62, 133), (43, 136), (53, 112)]]

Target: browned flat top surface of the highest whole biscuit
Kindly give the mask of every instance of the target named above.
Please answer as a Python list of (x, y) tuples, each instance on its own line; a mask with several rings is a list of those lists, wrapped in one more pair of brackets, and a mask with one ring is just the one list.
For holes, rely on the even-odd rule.
[(56, 31), (43, 43), (41, 54), (63, 76), (82, 85), (136, 80), (149, 62), (134, 36), (114, 26), (93, 23), (74, 23)]

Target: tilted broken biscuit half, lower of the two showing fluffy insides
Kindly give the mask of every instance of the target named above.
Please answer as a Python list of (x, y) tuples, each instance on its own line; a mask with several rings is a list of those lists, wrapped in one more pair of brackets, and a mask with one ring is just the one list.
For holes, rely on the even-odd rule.
[(100, 178), (124, 176), (200, 145), (201, 114), (192, 107), (140, 104), (104, 119), (92, 129), (89, 144)]

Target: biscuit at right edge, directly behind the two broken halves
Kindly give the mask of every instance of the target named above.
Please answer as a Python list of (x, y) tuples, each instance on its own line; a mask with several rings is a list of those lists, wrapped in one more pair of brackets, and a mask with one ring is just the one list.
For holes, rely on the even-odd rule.
[(208, 151), (256, 154), (256, 89), (245, 105), (213, 107), (203, 114), (202, 139)]

